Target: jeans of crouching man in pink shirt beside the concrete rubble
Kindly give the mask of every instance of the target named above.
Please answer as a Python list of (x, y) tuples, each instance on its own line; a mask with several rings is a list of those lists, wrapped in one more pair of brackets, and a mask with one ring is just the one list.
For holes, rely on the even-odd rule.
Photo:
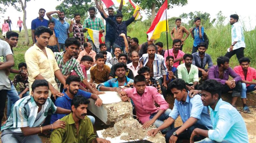
[[(169, 108), (166, 109), (166, 110), (164, 111), (164, 113), (155, 121), (154, 125), (156, 125), (157, 128), (158, 128), (159, 126), (161, 126), (161, 125), (164, 123), (164, 120), (166, 120), (167, 118), (169, 118), (169, 114), (170, 114), (171, 112), (172, 112), (172, 109), (169, 109)], [(155, 115), (156, 115), (156, 113), (153, 113), (153, 114), (151, 114), (151, 116), (150, 116), (149, 118), (152, 119)], [(166, 132), (172, 130), (173, 128), (174, 128), (174, 123), (173, 123), (171, 126), (165, 128), (165, 129), (163, 129), (161, 132), (162, 132), (163, 134), (165, 134)]]

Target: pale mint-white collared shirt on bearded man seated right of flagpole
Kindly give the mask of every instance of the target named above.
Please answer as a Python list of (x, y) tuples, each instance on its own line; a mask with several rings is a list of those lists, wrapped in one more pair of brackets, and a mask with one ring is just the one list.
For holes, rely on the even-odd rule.
[(193, 84), (195, 81), (197, 82), (199, 81), (198, 68), (195, 65), (191, 64), (189, 73), (185, 66), (185, 63), (180, 64), (177, 67), (177, 70), (178, 70), (178, 78), (183, 79), (186, 83)]

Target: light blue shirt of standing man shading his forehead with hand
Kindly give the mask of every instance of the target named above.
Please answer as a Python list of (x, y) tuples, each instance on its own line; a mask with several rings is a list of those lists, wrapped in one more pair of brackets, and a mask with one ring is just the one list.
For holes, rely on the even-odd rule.
[(54, 29), (59, 31), (58, 42), (64, 44), (66, 39), (68, 39), (69, 24), (67, 21), (64, 21), (64, 23), (62, 24), (60, 20), (57, 20), (54, 17), (52, 17), (52, 20), (55, 24)]

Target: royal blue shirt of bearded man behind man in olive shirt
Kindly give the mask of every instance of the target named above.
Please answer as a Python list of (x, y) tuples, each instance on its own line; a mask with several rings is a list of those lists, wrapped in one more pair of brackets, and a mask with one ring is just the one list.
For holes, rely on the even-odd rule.
[[(64, 89), (63, 92), (62, 92), (64, 94), (64, 96), (58, 97), (54, 104), (57, 107), (61, 107), (61, 108), (64, 108), (64, 109), (71, 110), (71, 101), (72, 101), (72, 99), (70, 99), (68, 97), (68, 95), (65, 93), (66, 90), (67, 89)], [(77, 95), (82, 95), (82, 96), (84, 96), (85, 98), (88, 99), (88, 98), (91, 98), (92, 94), (89, 93), (89, 92), (85, 92), (81, 89), (78, 89), (78, 92), (75, 96), (77, 96)], [(62, 117), (66, 116), (66, 115), (68, 115), (68, 114), (53, 114), (52, 117), (51, 117), (51, 124), (54, 123), (55, 121), (57, 121), (58, 119), (61, 119)]]

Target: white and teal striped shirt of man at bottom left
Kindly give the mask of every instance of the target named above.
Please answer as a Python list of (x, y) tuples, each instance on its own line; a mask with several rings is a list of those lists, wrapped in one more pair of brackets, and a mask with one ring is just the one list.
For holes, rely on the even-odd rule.
[[(1, 131), (8, 129), (13, 132), (20, 132), (23, 127), (38, 127), (43, 123), (48, 112), (55, 113), (57, 107), (53, 104), (51, 98), (47, 98), (44, 105), (42, 105), (41, 111), (39, 113), (41, 116), (36, 120), (38, 106), (33, 98), (33, 96), (26, 96), (19, 99), (12, 106), (12, 112), (9, 118), (7, 119), (4, 126), (1, 127)], [(50, 110), (51, 109), (51, 110)]]

